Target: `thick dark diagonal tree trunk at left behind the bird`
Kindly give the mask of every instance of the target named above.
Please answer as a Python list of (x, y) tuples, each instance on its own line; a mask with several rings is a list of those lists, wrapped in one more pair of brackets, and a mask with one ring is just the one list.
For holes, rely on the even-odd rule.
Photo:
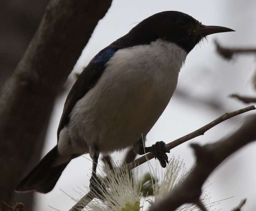
[[(51, 0), (0, 97), (0, 199), (9, 203), (45, 137), (54, 100), (111, 0)], [(8, 162), (7, 162), (8, 161)]]

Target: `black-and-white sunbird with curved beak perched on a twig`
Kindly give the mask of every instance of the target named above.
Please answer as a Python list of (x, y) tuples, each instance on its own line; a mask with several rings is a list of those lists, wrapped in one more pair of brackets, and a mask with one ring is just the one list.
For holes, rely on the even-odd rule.
[(162, 141), (143, 147), (147, 133), (170, 101), (187, 54), (207, 35), (231, 31), (164, 11), (99, 51), (67, 95), (57, 145), (15, 191), (50, 192), (67, 164), (87, 153), (93, 159), (90, 181), (96, 178), (99, 153), (128, 147), (137, 154), (153, 152), (165, 167), (170, 151)]

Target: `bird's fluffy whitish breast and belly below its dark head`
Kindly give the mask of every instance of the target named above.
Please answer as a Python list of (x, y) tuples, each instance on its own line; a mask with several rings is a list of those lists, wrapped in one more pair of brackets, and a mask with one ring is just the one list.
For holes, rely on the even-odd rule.
[(109, 152), (147, 134), (172, 97), (186, 56), (176, 44), (160, 39), (118, 50), (71, 112), (67, 129), (74, 148), (88, 152), (96, 145)]

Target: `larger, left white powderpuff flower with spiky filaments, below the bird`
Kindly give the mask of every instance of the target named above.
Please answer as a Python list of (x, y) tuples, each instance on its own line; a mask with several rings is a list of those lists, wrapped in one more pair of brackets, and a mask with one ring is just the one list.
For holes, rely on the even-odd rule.
[[(115, 167), (111, 170), (108, 165), (105, 166), (104, 172), (101, 172), (99, 178), (105, 178), (103, 185), (106, 187), (102, 190), (104, 201), (93, 200), (84, 210), (88, 211), (140, 211), (141, 184), (138, 183), (140, 172), (136, 167), (131, 169), (129, 165)], [(99, 189), (99, 184), (95, 184)], [(94, 191), (92, 191), (94, 192)], [(97, 196), (97, 193), (93, 193)], [(82, 201), (81, 206), (87, 201)]]

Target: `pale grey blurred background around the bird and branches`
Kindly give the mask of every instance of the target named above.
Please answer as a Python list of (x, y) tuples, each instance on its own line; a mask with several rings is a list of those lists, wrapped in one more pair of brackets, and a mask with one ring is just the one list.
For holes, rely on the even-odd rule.
[[(227, 62), (216, 54), (213, 41), (218, 39), (227, 46), (256, 46), (255, 6), (254, 0), (114, 0), (108, 13), (96, 27), (73, 72), (81, 72), (99, 50), (125, 35), (136, 23), (157, 12), (177, 10), (191, 15), (205, 25), (221, 25), (236, 30), (236, 32), (210, 35), (208, 42), (204, 41), (197, 45), (188, 55), (180, 72), (177, 87), (177, 90), (185, 92), (188, 97), (182, 98), (175, 94), (147, 136), (147, 146), (160, 140), (170, 142), (198, 129), (224, 112), (245, 107), (242, 103), (227, 98), (227, 95), (233, 92), (254, 93), (251, 86), (251, 77), (256, 69), (255, 58), (240, 56), (231, 62)], [(79, 28), (77, 28), (77, 33), (79, 33)], [(74, 81), (71, 74), (66, 92), (56, 101), (44, 154), (56, 145), (56, 131), (64, 101)], [(196, 100), (193, 100), (194, 98), (213, 100), (220, 104), (224, 110), (212, 109), (211, 106), (196, 102)], [(194, 164), (194, 156), (189, 143), (205, 144), (217, 141), (236, 129), (242, 119), (241, 117), (245, 115), (219, 124), (204, 136), (176, 147), (171, 151), (169, 157), (173, 154), (175, 156), (179, 155), (184, 159), (187, 168), (190, 168)], [(209, 178), (212, 185), (207, 188), (207, 191), (211, 192), (212, 201), (234, 196), (232, 199), (223, 201), (217, 209), (230, 210), (243, 198), (248, 198), (244, 210), (254, 210), (256, 208), (255, 151), (255, 143), (244, 147)], [(120, 153), (113, 155), (116, 159), (122, 157)], [(86, 157), (89, 158), (88, 155)], [(74, 197), (77, 196), (72, 188), (89, 185), (87, 175), (91, 172), (90, 168), (91, 162), (87, 159), (83, 157), (74, 159), (67, 166), (51, 193), (36, 195), (36, 210), (52, 210), (48, 205), (60, 210), (68, 210), (74, 202), (64, 195), (59, 188)], [(144, 169), (147, 171), (147, 166)]]

